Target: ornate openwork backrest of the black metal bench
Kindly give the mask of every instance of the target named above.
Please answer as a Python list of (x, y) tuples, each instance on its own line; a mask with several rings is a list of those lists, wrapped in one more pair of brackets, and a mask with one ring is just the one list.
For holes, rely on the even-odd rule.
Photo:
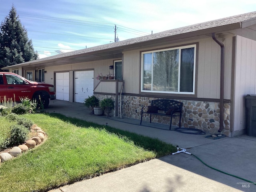
[(169, 99), (157, 99), (151, 101), (152, 106), (157, 106), (158, 110), (163, 110), (164, 112), (167, 112), (170, 108), (176, 106), (179, 108), (179, 110), (182, 110), (182, 104), (182, 102)]

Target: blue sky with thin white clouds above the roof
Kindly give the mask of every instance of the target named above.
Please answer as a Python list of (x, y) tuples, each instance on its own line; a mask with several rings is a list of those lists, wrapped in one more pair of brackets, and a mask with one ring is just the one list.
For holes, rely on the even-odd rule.
[(255, 0), (1, 0), (12, 4), (40, 58), (256, 11)]

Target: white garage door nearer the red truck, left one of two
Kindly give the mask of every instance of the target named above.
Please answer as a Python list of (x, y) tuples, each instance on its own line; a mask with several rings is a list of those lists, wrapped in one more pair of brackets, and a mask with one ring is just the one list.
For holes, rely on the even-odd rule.
[(69, 72), (56, 73), (56, 99), (69, 100)]

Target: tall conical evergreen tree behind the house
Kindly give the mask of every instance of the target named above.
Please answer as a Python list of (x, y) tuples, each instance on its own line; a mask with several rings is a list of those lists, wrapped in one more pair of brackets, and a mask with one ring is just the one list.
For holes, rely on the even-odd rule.
[(16, 8), (12, 5), (10, 13), (0, 26), (0, 65), (11, 66), (38, 59), (32, 40), (21, 24)]

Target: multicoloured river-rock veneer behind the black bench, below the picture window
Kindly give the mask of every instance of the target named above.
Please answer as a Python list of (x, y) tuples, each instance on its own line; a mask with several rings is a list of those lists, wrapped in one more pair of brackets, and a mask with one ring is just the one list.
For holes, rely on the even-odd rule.
[[(123, 96), (122, 116), (140, 119), (142, 106), (149, 106), (151, 100), (158, 98)], [(220, 128), (220, 108), (218, 102), (177, 100), (183, 103), (181, 127), (198, 128), (207, 133), (217, 134)], [(149, 121), (149, 114), (144, 114), (142, 120)], [(166, 116), (152, 116), (152, 122), (170, 124)], [(179, 117), (172, 120), (173, 126), (178, 126)], [(230, 135), (230, 103), (224, 103), (222, 134)]]

